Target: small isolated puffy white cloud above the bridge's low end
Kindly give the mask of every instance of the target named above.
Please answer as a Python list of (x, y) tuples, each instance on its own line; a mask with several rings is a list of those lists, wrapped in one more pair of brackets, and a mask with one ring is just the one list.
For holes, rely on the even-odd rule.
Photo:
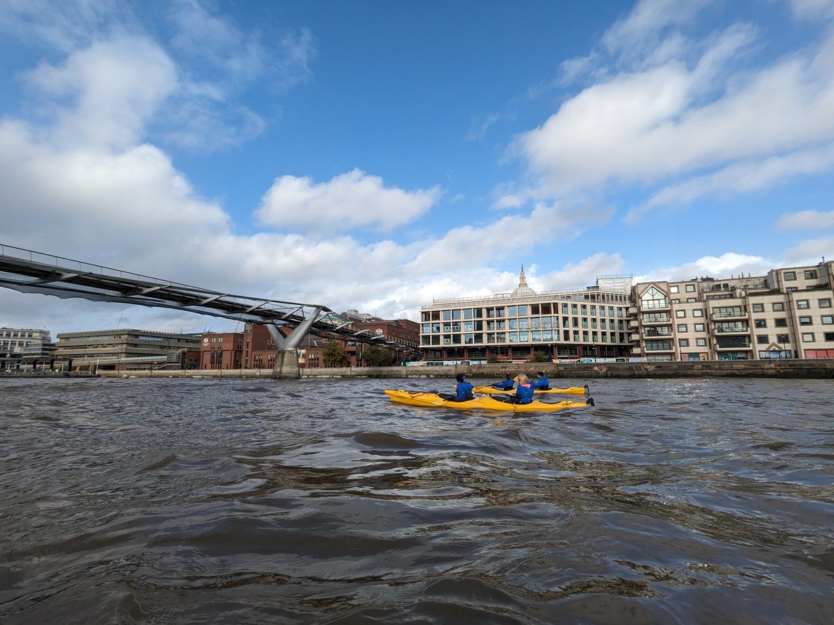
[(264, 225), (304, 231), (386, 231), (420, 217), (440, 195), (439, 187), (410, 192), (386, 188), (382, 178), (359, 169), (319, 184), (308, 177), (282, 176), (264, 195), (256, 215)]

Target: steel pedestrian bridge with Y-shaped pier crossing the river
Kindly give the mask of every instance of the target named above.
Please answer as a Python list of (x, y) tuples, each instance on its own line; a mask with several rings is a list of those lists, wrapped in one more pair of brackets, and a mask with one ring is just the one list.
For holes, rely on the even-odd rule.
[[(339, 338), (420, 354), (417, 345), (354, 328), (353, 323), (323, 304), (282, 302), (211, 291), (3, 244), (0, 244), (0, 287), (20, 293), (174, 308), (259, 323), (269, 330), (279, 348), (274, 368), (277, 378), (300, 376), (297, 349), (310, 331), (324, 338)], [(280, 328), (289, 329), (289, 335), (282, 333)]]

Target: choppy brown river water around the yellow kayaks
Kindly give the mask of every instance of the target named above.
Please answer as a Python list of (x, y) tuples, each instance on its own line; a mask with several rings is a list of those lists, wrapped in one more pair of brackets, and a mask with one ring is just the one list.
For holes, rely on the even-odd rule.
[(555, 382), (0, 380), (0, 621), (834, 622), (831, 382)]

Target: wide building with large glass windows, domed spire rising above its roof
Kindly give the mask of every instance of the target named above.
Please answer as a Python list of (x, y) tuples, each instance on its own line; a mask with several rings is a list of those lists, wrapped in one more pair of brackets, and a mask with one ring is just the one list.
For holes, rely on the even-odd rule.
[(420, 308), (420, 348), (429, 362), (625, 358), (630, 277), (598, 278), (584, 289), (536, 293), (521, 268), (512, 293), (435, 299)]

